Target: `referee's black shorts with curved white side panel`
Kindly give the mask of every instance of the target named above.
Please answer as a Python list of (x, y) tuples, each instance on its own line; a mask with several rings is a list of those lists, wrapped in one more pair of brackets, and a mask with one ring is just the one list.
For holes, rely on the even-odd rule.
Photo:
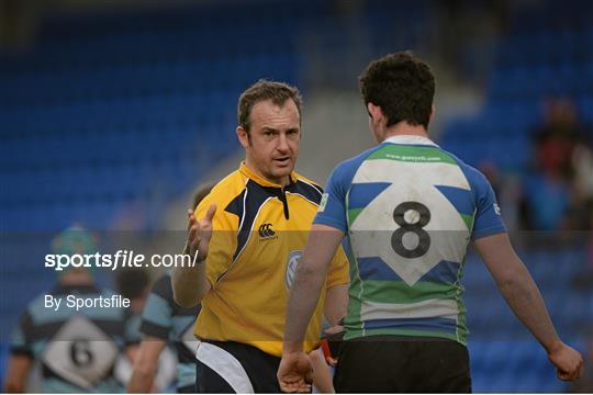
[[(204, 350), (200, 349), (202, 346), (209, 350), (208, 354), (201, 353)], [(200, 348), (195, 379), (198, 393), (280, 392), (276, 376), (280, 358), (258, 348), (232, 341), (202, 341)], [(228, 359), (228, 354), (224, 351), (231, 354), (232, 359)]]

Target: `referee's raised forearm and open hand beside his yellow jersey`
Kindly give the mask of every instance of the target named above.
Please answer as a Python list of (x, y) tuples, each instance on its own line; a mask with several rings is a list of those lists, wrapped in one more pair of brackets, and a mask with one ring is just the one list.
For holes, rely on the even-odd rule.
[(198, 221), (193, 212), (188, 211), (188, 240), (187, 250), (190, 257), (198, 253), (195, 266), (176, 267), (171, 275), (174, 298), (182, 307), (190, 308), (202, 301), (212, 287), (206, 278), (205, 259), (212, 238), (212, 218), (216, 212), (216, 205), (212, 204), (205, 216)]

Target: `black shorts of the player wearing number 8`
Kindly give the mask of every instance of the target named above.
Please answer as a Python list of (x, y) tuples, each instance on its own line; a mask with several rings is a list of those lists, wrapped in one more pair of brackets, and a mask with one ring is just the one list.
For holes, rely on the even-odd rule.
[(471, 393), (468, 349), (427, 337), (344, 341), (334, 386), (337, 393)]

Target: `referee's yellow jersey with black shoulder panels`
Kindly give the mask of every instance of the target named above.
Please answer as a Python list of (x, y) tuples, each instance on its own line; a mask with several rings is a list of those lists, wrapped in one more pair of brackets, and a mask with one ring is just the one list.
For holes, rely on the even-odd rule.
[[(298, 174), (282, 188), (242, 163), (195, 208), (201, 219), (216, 204), (206, 258), (211, 291), (195, 325), (201, 339), (237, 341), (280, 357), (290, 286), (322, 189)], [(325, 290), (347, 284), (348, 261), (334, 257), (306, 339), (318, 339)], [(306, 341), (310, 351), (315, 341)]]

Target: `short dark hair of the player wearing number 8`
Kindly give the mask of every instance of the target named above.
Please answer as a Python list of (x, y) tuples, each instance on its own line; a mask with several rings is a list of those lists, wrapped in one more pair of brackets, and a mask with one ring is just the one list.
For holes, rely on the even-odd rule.
[(373, 60), (358, 78), (365, 105), (381, 108), (387, 126), (406, 121), (428, 129), (435, 77), (411, 52), (389, 54)]

